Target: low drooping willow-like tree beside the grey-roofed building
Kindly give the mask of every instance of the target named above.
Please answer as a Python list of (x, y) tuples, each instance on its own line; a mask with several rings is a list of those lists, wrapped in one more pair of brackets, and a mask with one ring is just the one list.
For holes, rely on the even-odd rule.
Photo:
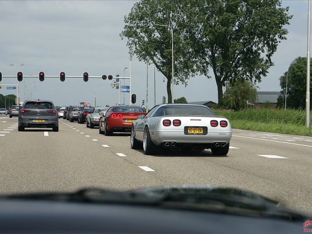
[(224, 104), (229, 109), (240, 110), (248, 107), (248, 103), (255, 104), (258, 100), (257, 86), (247, 80), (237, 80), (228, 84), (224, 92)]

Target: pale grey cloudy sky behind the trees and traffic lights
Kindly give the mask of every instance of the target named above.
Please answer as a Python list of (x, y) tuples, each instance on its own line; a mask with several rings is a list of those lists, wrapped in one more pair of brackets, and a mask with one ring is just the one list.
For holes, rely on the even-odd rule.
[[(129, 76), (129, 54), (126, 40), (119, 34), (124, 28), (124, 16), (128, 15), (136, 1), (0, 1), (0, 71), (3, 76), (15, 76), (19, 66), (24, 76), (44, 71), (46, 76), (89, 76), (120, 74)], [(283, 1), (294, 15), (287, 40), (280, 43), (272, 61), (269, 74), (257, 84), (259, 91), (280, 91), (279, 77), (287, 71), (298, 56), (307, 55), (308, 1)], [(137, 58), (131, 61), (132, 92), (138, 102), (146, 103), (146, 64)], [(213, 76), (212, 76), (213, 77)], [(156, 104), (167, 97), (164, 76), (156, 70)], [(112, 89), (110, 80), (77, 78), (24, 78), (20, 83), (19, 96), (24, 100), (24, 85), (32, 87), (33, 99), (49, 99), (58, 106), (77, 105), (87, 102), (94, 105), (115, 105), (118, 91)], [(148, 107), (154, 106), (154, 65), (148, 70)], [(16, 84), (16, 78), (3, 78), (2, 84)], [(123, 82), (122, 82), (123, 83)], [(129, 81), (125, 81), (129, 85)], [(26, 99), (27, 99), (27, 87)], [(15, 94), (15, 90), (0, 89), (3, 95)], [(174, 98), (184, 96), (189, 102), (217, 102), (217, 85), (214, 78), (197, 76), (188, 80), (188, 86), (176, 85)], [(123, 93), (121, 94), (123, 103)], [(129, 93), (125, 93), (129, 104)], [(144, 105), (145, 106), (145, 105)], [(145, 106), (146, 107), (146, 106)]]

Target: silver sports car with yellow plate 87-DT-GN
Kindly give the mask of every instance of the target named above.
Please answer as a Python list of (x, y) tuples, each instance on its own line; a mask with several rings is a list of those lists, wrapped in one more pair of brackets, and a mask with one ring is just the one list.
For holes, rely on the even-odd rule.
[(131, 128), (131, 148), (156, 154), (160, 147), (202, 151), (214, 155), (229, 151), (232, 128), (229, 120), (204, 105), (160, 104), (139, 115)]

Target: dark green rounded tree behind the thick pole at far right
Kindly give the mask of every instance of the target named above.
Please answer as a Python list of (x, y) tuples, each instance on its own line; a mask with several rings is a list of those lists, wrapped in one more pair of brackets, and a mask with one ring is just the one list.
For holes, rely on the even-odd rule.
[[(310, 64), (312, 59), (310, 59)], [(288, 75), (287, 75), (288, 73)], [(312, 66), (310, 66), (310, 73), (312, 73)], [(301, 108), (305, 109), (305, 95), (306, 95), (306, 75), (307, 74), (307, 58), (297, 57), (291, 62), (288, 71), (280, 77), (281, 94), (277, 99), (277, 106), (285, 108), (285, 94), (287, 81), (287, 108)], [(310, 93), (312, 91), (312, 80), (310, 80)], [(312, 101), (310, 99), (310, 107)]]

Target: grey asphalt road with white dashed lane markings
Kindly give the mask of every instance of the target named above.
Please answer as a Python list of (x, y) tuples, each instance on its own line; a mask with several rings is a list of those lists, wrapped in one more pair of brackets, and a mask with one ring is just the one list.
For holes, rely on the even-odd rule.
[(211, 184), (246, 189), (312, 212), (312, 138), (233, 129), (227, 156), (130, 148), (129, 134), (59, 120), (52, 129), (17, 131), (0, 116), (0, 193), (67, 192), (85, 187), (128, 190)]

